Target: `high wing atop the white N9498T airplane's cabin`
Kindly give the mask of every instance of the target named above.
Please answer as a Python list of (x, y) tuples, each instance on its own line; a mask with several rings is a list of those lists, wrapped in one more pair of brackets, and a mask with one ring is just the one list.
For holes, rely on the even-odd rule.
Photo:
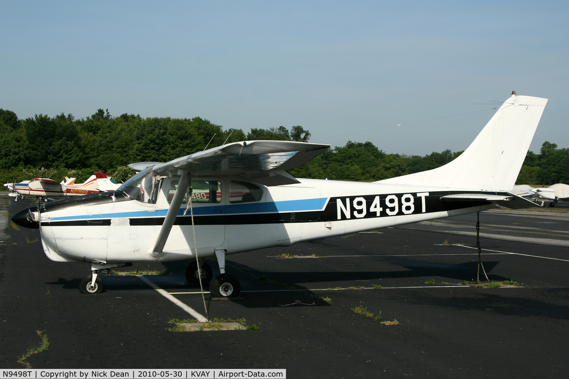
[(243, 176), (266, 186), (298, 184), (285, 169), (298, 168), (328, 149), (330, 145), (294, 141), (234, 142), (190, 154), (167, 163), (130, 164), (134, 170), (150, 166), (159, 175), (176, 175), (179, 169), (192, 176)]

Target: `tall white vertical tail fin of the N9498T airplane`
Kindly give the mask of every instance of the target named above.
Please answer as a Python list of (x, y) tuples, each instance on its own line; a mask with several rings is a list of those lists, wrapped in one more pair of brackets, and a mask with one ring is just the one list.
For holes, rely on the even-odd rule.
[(547, 99), (512, 92), (472, 144), (438, 168), (378, 181), (473, 190), (512, 190)]

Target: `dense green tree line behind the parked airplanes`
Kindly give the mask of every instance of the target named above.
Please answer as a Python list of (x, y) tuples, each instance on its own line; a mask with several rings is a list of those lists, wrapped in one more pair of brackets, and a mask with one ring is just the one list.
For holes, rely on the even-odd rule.
[[(3, 183), (33, 177), (60, 180), (68, 176), (82, 182), (94, 171), (117, 173), (124, 179), (125, 166), (134, 162), (166, 162), (206, 147), (236, 141), (306, 142), (310, 136), (309, 131), (298, 125), (290, 130), (280, 126), (251, 128), (245, 132), (235, 128), (224, 130), (200, 117), (142, 118), (126, 113), (112, 116), (108, 110), (98, 109), (90, 117), (81, 119), (63, 113), (19, 119), (13, 111), (0, 109), (0, 180)], [(446, 150), (426, 156), (387, 154), (369, 141), (348, 141), (345, 146), (328, 149), (302, 167), (289, 171), (303, 178), (377, 181), (442, 166), (460, 153)], [(546, 150), (542, 148), (539, 156), (529, 152), (524, 167), (531, 169), (522, 168), (522, 173), (533, 173), (535, 167), (550, 164), (548, 154), (567, 156), (567, 149), (556, 149), (555, 144), (549, 144)], [(534, 156), (535, 161), (531, 160)], [(537, 180), (537, 177), (536, 174), (531, 178)]]

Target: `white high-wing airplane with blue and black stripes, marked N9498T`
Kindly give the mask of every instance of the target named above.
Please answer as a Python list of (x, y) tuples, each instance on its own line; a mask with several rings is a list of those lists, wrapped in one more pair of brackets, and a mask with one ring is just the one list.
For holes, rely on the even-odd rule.
[(12, 220), (40, 228), (51, 260), (91, 264), (82, 293), (103, 290), (101, 270), (195, 260), (197, 251), (201, 260), (188, 266), (188, 281), (201, 277), (209, 282), (212, 270), (203, 258), (216, 256), (221, 274), (211, 280), (211, 293), (236, 297), (241, 285), (225, 273), (228, 254), (318, 242), (497, 204), (539, 206), (512, 188), (546, 103), (512, 93), (462, 155), (424, 172), (373, 183), (297, 179), (284, 170), (303, 165), (329, 145), (242, 141), (167, 163), (131, 164), (139, 173), (116, 191), (29, 207)]

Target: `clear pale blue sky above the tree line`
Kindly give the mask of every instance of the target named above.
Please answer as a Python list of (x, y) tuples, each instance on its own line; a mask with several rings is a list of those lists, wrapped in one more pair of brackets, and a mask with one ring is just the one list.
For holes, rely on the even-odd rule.
[(108, 108), (245, 131), (302, 125), (314, 142), (369, 140), (388, 153), (424, 155), (468, 147), (495, 112), (473, 103), (516, 90), (550, 99), (531, 149), (545, 140), (569, 147), (568, 9), (535, 1), (4, 1), (0, 107), (20, 118)]

